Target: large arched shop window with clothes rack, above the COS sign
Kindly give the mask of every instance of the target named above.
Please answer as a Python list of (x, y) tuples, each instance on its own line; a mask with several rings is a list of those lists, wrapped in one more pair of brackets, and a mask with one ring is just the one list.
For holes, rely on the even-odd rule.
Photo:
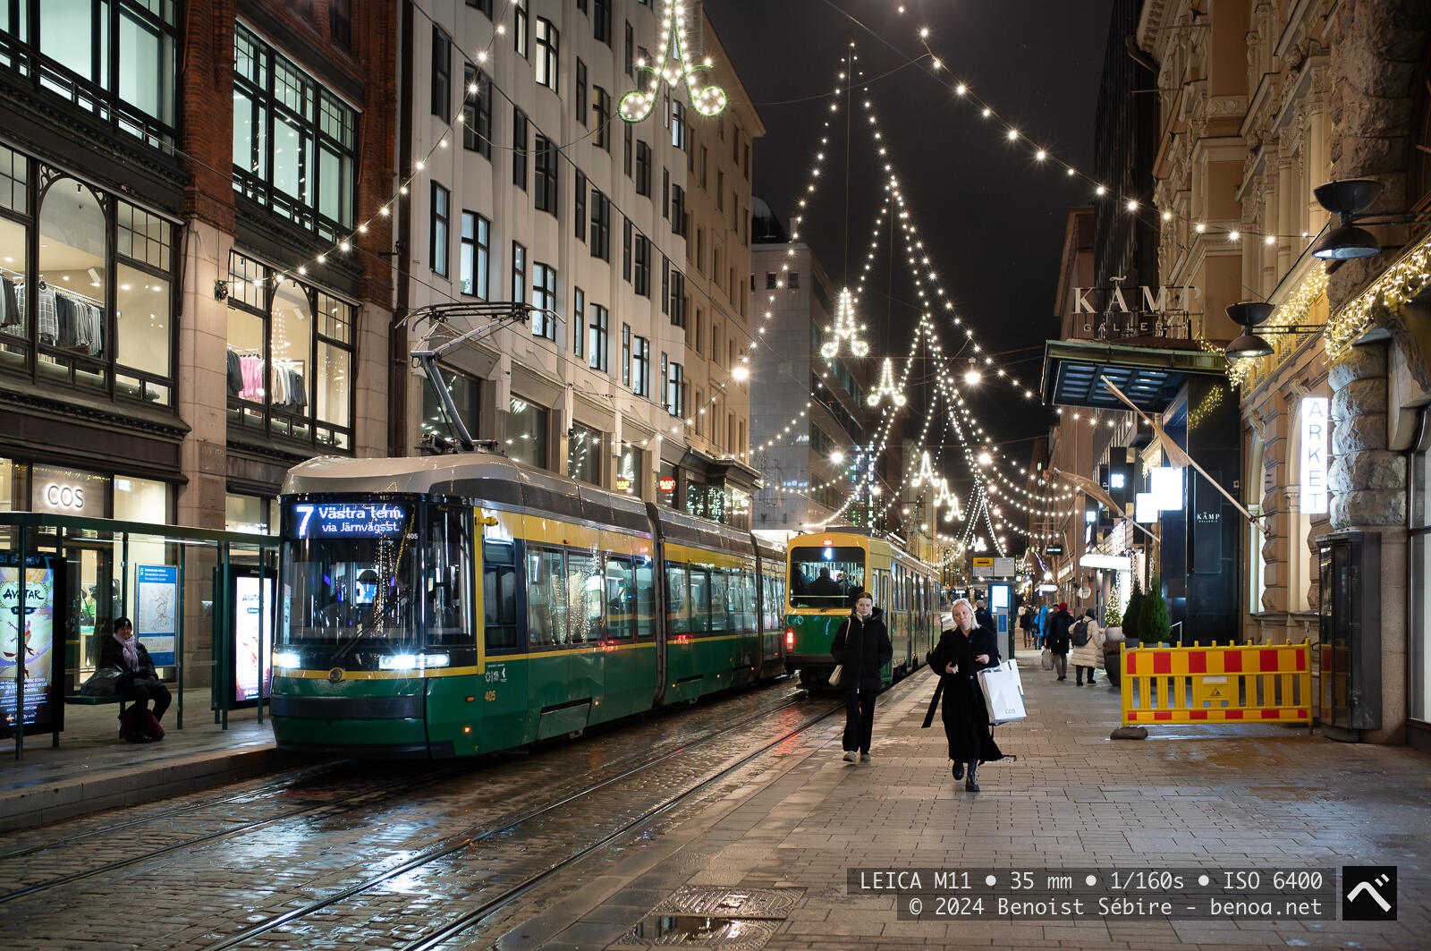
[(173, 405), (173, 231), (0, 148), (0, 367), (46, 390)]

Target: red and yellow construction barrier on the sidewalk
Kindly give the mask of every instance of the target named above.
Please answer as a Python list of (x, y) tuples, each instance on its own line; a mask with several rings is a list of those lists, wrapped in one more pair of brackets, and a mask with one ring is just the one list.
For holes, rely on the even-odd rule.
[(1312, 725), (1311, 645), (1123, 647), (1123, 726)]

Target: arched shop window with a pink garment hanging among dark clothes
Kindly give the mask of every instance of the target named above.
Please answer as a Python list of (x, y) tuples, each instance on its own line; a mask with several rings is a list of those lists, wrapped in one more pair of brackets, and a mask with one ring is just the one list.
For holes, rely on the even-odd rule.
[(229, 284), (229, 440), (351, 450), (353, 305), (238, 252)]

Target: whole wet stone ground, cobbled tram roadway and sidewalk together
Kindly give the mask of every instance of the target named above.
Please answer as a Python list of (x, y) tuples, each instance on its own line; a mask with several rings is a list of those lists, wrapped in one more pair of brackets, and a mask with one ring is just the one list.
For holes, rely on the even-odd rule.
[[(830, 699), (790, 703), (784, 682), (528, 755), (318, 766), (3, 836), (4, 947), (1431, 947), (1431, 758), (1275, 726), (1112, 742), (1116, 695), (1039, 675), (1029, 719), (999, 729), (1017, 761), (982, 769), (979, 793), (949, 775), (942, 730), (919, 729), (920, 673), (881, 697), (869, 763), (840, 761), (841, 715), (801, 730)], [(1342, 865), (1397, 865), (1398, 919), (944, 924), (846, 884), (850, 868)]]

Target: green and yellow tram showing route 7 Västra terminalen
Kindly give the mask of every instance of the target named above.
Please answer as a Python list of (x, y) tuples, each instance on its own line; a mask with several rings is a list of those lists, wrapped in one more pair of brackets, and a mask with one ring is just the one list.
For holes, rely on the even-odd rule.
[(283, 486), (283, 749), (471, 756), (786, 673), (784, 554), (475, 453)]

